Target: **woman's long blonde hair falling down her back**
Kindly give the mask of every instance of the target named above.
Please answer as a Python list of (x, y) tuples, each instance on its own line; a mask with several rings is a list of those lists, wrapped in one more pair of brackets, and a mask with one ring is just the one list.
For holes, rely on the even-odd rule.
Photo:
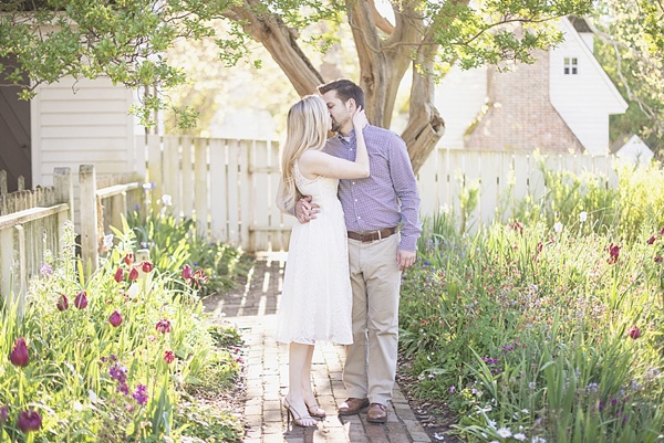
[(286, 209), (292, 209), (302, 197), (293, 177), (293, 165), (307, 149), (322, 149), (328, 139), (330, 113), (320, 95), (308, 95), (288, 112), (286, 141), (281, 149), (282, 200)]

